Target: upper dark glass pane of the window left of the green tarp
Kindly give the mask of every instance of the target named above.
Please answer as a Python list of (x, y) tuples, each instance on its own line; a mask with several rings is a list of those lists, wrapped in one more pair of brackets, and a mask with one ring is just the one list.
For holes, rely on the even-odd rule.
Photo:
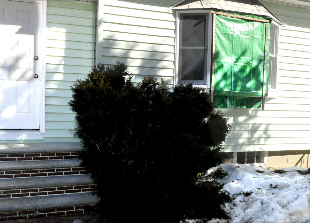
[(182, 16), (182, 47), (204, 47), (205, 15)]

